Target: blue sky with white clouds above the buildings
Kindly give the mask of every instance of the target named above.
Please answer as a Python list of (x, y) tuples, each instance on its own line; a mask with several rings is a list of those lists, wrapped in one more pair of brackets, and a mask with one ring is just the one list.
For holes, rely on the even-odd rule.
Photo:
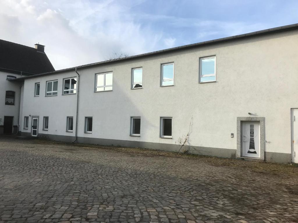
[(297, 0), (0, 0), (0, 39), (56, 70), (298, 23)]

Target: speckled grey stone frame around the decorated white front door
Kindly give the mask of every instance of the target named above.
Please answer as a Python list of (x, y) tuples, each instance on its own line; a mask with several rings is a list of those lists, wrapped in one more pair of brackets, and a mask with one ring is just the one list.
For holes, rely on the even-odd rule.
[(258, 159), (265, 160), (265, 117), (237, 117), (237, 157), (243, 157), (242, 154), (242, 123), (250, 121), (250, 122), (260, 122), (259, 125), (259, 135), (260, 135), (260, 157), (250, 157), (245, 156), (245, 158), (249, 159)]

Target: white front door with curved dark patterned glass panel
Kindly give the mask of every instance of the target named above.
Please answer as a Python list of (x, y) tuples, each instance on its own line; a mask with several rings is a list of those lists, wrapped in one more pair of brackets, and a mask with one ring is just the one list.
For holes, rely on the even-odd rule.
[(243, 122), (242, 156), (260, 157), (260, 122)]

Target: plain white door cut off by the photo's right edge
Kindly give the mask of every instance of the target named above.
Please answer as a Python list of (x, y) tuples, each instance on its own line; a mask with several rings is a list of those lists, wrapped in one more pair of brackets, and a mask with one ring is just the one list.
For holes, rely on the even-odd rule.
[(298, 109), (291, 109), (292, 162), (298, 163)]

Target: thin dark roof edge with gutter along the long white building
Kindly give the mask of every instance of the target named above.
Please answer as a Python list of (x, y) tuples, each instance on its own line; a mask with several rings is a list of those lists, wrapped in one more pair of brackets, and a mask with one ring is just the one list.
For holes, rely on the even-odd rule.
[(184, 49), (189, 49), (189, 48), (195, 48), (195, 47), (200, 47), (200, 46), (205, 46), (205, 45), (210, 45), (210, 44), (224, 43), (224, 42), (228, 42), (228, 41), (240, 40), (240, 39), (256, 37), (256, 36), (263, 36), (263, 35), (266, 35), (266, 34), (277, 33), (277, 32), (285, 32), (285, 31), (294, 30), (294, 29), (298, 29), (298, 23), (288, 25), (288, 26), (280, 26), (280, 27), (271, 28), (271, 29), (264, 29), (264, 30), (257, 31), (257, 32), (250, 32), (250, 33), (246, 33), (246, 34), (220, 38), (220, 39), (216, 39), (216, 40), (209, 40), (209, 41), (205, 41), (205, 42), (201, 42), (201, 43), (193, 43), (193, 44), (189, 44), (189, 45), (178, 46), (178, 47), (169, 48), (169, 49), (165, 49), (165, 50), (154, 51), (154, 52), (146, 53), (146, 54), (139, 54), (139, 55), (128, 56), (128, 57), (119, 58), (119, 59), (106, 60), (106, 61), (102, 61), (102, 62), (86, 64), (86, 65), (81, 65), (81, 66), (77, 66), (77, 67), (71, 67), (71, 68), (66, 68), (66, 69), (62, 69), (62, 70), (56, 70), (56, 71), (48, 72), (48, 73), (40, 73), (40, 74), (27, 76), (27, 77), (15, 78), (15, 79), (12, 79), (10, 81), (23, 81), (23, 79), (25, 79), (25, 78), (33, 78), (33, 77), (36, 77), (36, 76), (49, 75), (49, 74), (53, 74), (53, 73), (60, 73), (60, 72), (64, 72), (64, 71), (71, 71), (71, 70), (76, 70), (76, 69), (79, 69), (79, 68), (91, 67), (91, 66), (102, 65), (102, 64), (109, 64), (109, 63), (114, 63), (114, 62), (119, 62), (119, 61), (126, 61), (126, 60), (130, 60), (130, 59), (136, 59), (136, 58), (141, 58), (141, 57), (146, 57), (146, 56), (164, 54), (164, 53), (169, 53), (169, 52), (173, 52), (173, 51), (179, 51), (179, 50), (184, 50)]

